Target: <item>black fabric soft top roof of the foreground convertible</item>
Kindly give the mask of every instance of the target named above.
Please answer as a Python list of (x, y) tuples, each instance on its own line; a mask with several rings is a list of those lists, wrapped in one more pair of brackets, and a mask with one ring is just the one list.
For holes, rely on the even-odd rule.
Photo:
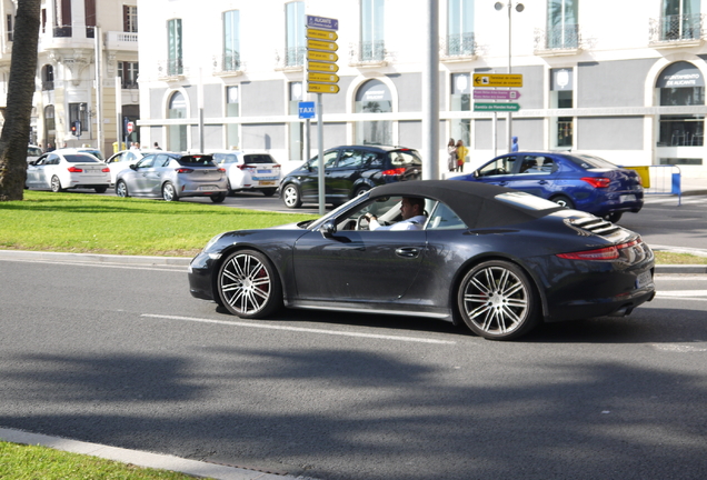
[(469, 228), (504, 227), (545, 217), (564, 207), (530, 210), (496, 199), (518, 190), (465, 180), (412, 180), (388, 183), (371, 190), (371, 197), (405, 196), (439, 200), (451, 208)]

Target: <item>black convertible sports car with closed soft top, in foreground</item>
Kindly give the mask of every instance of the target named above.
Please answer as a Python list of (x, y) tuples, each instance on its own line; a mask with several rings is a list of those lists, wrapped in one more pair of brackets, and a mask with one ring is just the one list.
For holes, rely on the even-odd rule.
[[(402, 198), (425, 200), (419, 230)], [(408, 202), (409, 203), (409, 202)], [(448, 180), (397, 182), (317, 220), (212, 238), (191, 261), (190, 292), (232, 314), (290, 308), (464, 322), (518, 338), (541, 321), (629, 314), (655, 296), (654, 254), (639, 234), (517, 190)]]

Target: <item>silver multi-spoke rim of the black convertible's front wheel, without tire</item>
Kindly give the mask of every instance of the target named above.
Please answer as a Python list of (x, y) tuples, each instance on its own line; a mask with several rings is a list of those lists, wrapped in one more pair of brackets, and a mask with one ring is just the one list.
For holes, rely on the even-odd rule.
[(266, 266), (243, 252), (228, 259), (219, 276), (221, 298), (238, 316), (253, 316), (262, 310), (272, 293), (272, 280)]

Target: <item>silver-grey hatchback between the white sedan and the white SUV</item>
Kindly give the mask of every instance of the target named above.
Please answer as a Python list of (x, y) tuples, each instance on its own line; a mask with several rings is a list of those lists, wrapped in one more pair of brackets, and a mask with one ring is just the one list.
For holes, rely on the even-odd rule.
[(210, 197), (220, 203), (228, 193), (226, 170), (201, 153), (150, 153), (118, 172), (118, 197), (153, 197), (177, 201), (185, 197)]

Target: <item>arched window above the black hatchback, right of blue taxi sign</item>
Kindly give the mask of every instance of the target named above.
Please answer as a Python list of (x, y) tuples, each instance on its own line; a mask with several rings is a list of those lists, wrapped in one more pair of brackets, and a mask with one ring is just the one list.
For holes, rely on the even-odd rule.
[[(392, 97), (380, 80), (368, 80), (356, 93), (356, 113), (390, 113)], [(392, 121), (364, 120), (356, 123), (358, 144), (392, 144)]]

